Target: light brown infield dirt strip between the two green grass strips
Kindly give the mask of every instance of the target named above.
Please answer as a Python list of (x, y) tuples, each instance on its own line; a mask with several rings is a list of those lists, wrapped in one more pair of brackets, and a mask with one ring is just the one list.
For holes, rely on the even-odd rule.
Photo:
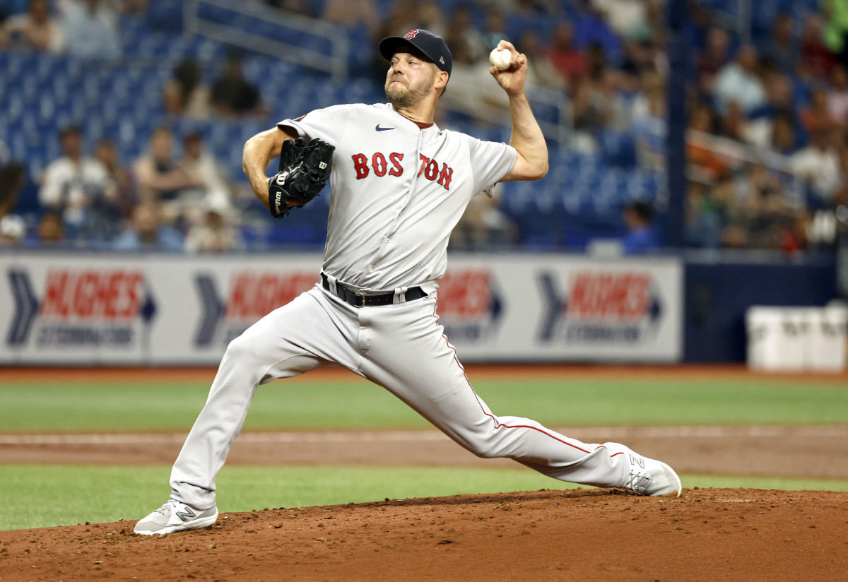
[[(848, 479), (848, 426), (690, 426), (561, 428), (583, 442), (627, 443), (680, 473)], [(164, 464), (186, 435), (2, 435), (0, 464)], [(437, 430), (245, 432), (228, 465), (358, 465), (499, 467)]]

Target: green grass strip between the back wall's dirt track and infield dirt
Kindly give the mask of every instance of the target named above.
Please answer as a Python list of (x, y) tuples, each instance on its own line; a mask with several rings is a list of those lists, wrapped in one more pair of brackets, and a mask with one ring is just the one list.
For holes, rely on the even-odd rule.
[[(260, 386), (254, 430), (414, 428), (427, 423), (357, 379)], [(815, 380), (481, 380), (494, 413), (554, 426), (845, 424), (848, 391)], [(198, 383), (0, 383), (0, 431), (188, 430), (209, 386)]]

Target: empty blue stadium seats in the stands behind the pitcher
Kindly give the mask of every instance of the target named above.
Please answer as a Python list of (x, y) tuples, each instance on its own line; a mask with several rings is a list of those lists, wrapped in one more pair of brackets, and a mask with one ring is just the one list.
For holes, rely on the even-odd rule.
[[(449, 14), (459, 1), (442, 0), (440, 6)], [(797, 12), (812, 0), (781, 2), (781, 7)], [(389, 0), (381, 0), (381, 3), (386, 13), (392, 9)], [(210, 83), (220, 75), (221, 58), (227, 46), (202, 36), (183, 36), (176, 28), (153, 30), (150, 21), (159, 19), (162, 14), (174, 14), (176, 8), (165, 5), (165, 0), (153, 0), (152, 4), (153, 17), (149, 21), (134, 17), (121, 19), (122, 42), (125, 47), (132, 47), (126, 54), (139, 55), (139, 59), (92, 67), (72, 58), (47, 54), (0, 54), (0, 75), (3, 75), (0, 136), (8, 141), (16, 156), (30, 160), (30, 172), (59, 155), (57, 130), (70, 123), (82, 125), (86, 147), (91, 147), (99, 137), (109, 137), (115, 141), (124, 163), (131, 164), (137, 155), (146, 151), (153, 128), (169, 121), (175, 130), (177, 144), (181, 145), (181, 136), (188, 131), (199, 130), (208, 151), (220, 159), (226, 174), (232, 180), (243, 182), (241, 149), (244, 141), (276, 120), (335, 103), (383, 100), (379, 85), (368, 80), (371, 53), (352, 52), (349, 64), (354, 73), (360, 66), (362, 76), (354, 76), (344, 83), (332, 82), (326, 74), (304, 72), (298, 65), (250, 53), (243, 62), (245, 76), (261, 83), (263, 99), (271, 108), (270, 119), (241, 119), (232, 123), (169, 119), (162, 103), (162, 87), (170, 79), (176, 62), (181, 58), (196, 58), (205, 65), (204, 80)], [(204, 10), (217, 14), (222, 22), (232, 21), (231, 11), (215, 7)], [(530, 14), (512, 20), (510, 30), (530, 27), (544, 36), (555, 25), (555, 20), (538, 19)], [(253, 19), (243, 19), (243, 24), (251, 22)], [(254, 30), (263, 32), (261, 26), (255, 26)], [(352, 46), (363, 34), (362, 30), (349, 32)], [(315, 36), (305, 35), (303, 44), (323, 53), (328, 51), (326, 42)], [(806, 86), (801, 85), (796, 93), (804, 90)], [(800, 98), (796, 101), (802, 103)], [(552, 117), (555, 112), (547, 108), (538, 108), (537, 115), (540, 119), (556, 120)], [(473, 119), (458, 114), (448, 114), (444, 126), (486, 140), (508, 141), (510, 138), (509, 128), (480, 127)], [(651, 175), (635, 167), (632, 136), (606, 132), (602, 144), (600, 155), (587, 155), (551, 143), (550, 174), (546, 180), (501, 186), (504, 212), (519, 224), (525, 241), (544, 248), (581, 241), (584, 244), (599, 230), (620, 228), (623, 204), (634, 199), (656, 200), (657, 192), (664, 191), (663, 175)], [(326, 236), (328, 202), (329, 196), (322, 195), (307, 209), (293, 213), (288, 218), (294, 220), (287, 218), (289, 224), (281, 232), (276, 232), (279, 224), (271, 224), (265, 229), (273, 231), (267, 236), (268, 240), (321, 244)], [(251, 232), (253, 240), (265, 237), (261, 229)]]

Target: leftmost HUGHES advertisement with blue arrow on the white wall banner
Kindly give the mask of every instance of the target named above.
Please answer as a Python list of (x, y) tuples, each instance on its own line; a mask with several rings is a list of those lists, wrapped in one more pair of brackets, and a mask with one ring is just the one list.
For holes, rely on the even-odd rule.
[(140, 263), (2, 258), (3, 362), (137, 363), (158, 309)]

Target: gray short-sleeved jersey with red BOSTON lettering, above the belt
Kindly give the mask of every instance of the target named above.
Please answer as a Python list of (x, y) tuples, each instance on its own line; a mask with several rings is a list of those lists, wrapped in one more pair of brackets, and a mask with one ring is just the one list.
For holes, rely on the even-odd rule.
[(440, 279), (469, 200), (517, 157), (503, 143), (421, 129), (389, 104), (337, 105), (278, 126), (336, 147), (323, 269), (366, 289)]

